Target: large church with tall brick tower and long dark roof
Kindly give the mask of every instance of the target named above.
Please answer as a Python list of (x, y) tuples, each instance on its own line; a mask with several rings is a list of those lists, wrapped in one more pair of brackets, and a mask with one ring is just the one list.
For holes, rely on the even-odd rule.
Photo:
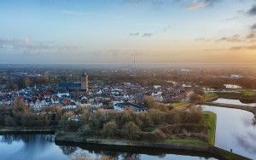
[(81, 75), (81, 82), (67, 82), (67, 83), (58, 83), (56, 85), (56, 89), (58, 90), (69, 90), (69, 91), (74, 91), (74, 90), (79, 90), (82, 92), (85, 92), (88, 94), (89, 92), (89, 84), (88, 84), (88, 75), (84, 71), (84, 73)]

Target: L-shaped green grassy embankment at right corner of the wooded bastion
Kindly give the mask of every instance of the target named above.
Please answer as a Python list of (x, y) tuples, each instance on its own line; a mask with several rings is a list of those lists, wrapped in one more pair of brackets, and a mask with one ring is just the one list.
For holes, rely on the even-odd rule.
[(193, 139), (167, 139), (164, 140), (164, 143), (181, 145), (181, 146), (197, 146), (197, 147), (207, 147), (214, 146), (215, 144), (215, 128), (216, 128), (216, 114), (212, 111), (204, 111), (205, 120), (204, 124), (207, 125), (208, 132), (207, 142), (201, 140), (193, 140)]

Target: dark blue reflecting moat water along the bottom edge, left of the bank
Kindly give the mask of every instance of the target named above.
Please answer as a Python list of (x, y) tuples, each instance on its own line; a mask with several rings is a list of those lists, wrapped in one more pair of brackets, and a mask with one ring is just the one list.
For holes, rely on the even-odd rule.
[[(73, 146), (71, 144), (56, 145), (54, 135), (51, 134), (5, 134), (0, 135), (0, 159), (8, 160), (65, 160), (77, 159), (83, 156), (95, 159), (108, 155), (115, 159), (126, 159), (132, 157), (141, 160), (155, 159), (207, 159), (208, 156), (201, 153), (168, 152), (163, 150), (138, 149), (125, 151), (119, 149), (109, 149), (103, 146)], [(187, 155), (186, 155), (187, 154)], [(189, 155), (190, 154), (190, 155)], [(214, 158), (208, 158), (214, 159)]]

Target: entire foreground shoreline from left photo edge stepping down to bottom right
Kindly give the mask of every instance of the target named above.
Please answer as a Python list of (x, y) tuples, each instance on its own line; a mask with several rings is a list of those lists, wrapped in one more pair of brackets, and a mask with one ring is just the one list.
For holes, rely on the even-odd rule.
[[(3, 134), (55, 134), (55, 128), (49, 127), (44, 129), (38, 128), (0, 128), (0, 135)], [(172, 151), (180, 151), (183, 154), (189, 153), (188, 155), (197, 155), (197, 156), (207, 156), (207, 157), (215, 157), (219, 159), (249, 159), (247, 157), (242, 157), (236, 153), (232, 153), (230, 151), (225, 151), (216, 146), (189, 146), (182, 144), (172, 144), (172, 143), (163, 143), (163, 142), (146, 142), (146, 141), (132, 141), (132, 140), (110, 140), (110, 139), (93, 139), (87, 138), (86, 140), (82, 140), (72, 134), (71, 136), (67, 136), (67, 134), (60, 135), (55, 134), (55, 143), (58, 144), (69, 144), (73, 146), (101, 146), (115, 148), (122, 151), (122, 148), (132, 147), (137, 149), (157, 149), (161, 151), (172, 152)], [(129, 150), (128, 150), (129, 151)]]

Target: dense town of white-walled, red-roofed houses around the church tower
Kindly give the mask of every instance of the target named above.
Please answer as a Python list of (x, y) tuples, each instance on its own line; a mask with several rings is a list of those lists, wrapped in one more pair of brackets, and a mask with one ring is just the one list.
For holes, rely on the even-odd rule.
[(90, 83), (89, 75), (81, 72), (80, 82), (61, 82), (55, 85), (34, 84), (29, 86), (32, 78), (44, 77), (40, 74), (22, 74), (24, 88), (17, 90), (5, 89), (2, 85), (0, 104), (10, 106), (12, 101), (21, 100), (35, 111), (42, 107), (61, 106), (63, 109), (76, 109), (78, 106), (92, 109), (108, 109), (122, 111), (129, 107), (134, 111), (146, 111), (143, 98), (152, 96), (154, 100), (171, 103), (173, 101), (189, 101), (193, 94), (186, 85), (170, 82), (169, 85), (142, 85), (139, 83)]

